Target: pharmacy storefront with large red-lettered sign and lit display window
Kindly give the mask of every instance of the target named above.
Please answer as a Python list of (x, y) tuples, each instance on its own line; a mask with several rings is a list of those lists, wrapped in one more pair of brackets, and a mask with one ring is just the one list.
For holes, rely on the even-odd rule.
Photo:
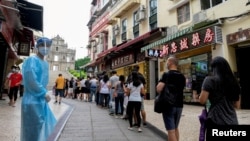
[[(220, 27), (207, 27), (169, 40), (163, 43), (160, 49), (159, 46), (158, 49), (155, 49), (156, 47), (148, 49), (146, 56), (150, 60), (157, 58), (158, 77), (160, 78), (163, 72), (166, 71), (166, 58), (175, 55), (179, 59), (179, 70), (186, 77), (184, 102), (198, 103), (201, 84), (210, 72), (209, 64), (212, 59), (213, 48), (222, 43), (221, 37)], [(150, 78), (153, 77), (153, 75), (150, 76)], [(155, 85), (150, 84), (150, 87), (155, 87)]]

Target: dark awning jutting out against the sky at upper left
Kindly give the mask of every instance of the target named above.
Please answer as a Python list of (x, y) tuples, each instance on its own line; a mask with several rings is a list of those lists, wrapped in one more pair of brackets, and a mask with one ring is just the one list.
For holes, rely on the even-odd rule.
[(16, 0), (22, 25), (43, 31), (43, 7), (25, 0)]

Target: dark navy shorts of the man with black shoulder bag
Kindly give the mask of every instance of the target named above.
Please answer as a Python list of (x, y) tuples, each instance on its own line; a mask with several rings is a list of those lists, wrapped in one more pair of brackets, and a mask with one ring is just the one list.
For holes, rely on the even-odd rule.
[(162, 112), (166, 130), (173, 130), (178, 128), (182, 109), (182, 107), (169, 107), (166, 111)]

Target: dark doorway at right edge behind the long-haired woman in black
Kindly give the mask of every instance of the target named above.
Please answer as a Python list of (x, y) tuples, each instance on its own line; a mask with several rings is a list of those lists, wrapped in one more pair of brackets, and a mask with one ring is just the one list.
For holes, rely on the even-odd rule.
[(246, 66), (246, 58), (249, 57), (250, 46), (236, 49), (236, 63), (238, 78), (241, 86), (241, 108), (250, 109), (250, 68)]

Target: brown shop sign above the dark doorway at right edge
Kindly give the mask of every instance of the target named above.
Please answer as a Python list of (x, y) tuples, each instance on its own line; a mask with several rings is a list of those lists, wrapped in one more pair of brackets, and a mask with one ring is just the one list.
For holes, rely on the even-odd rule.
[(228, 34), (227, 36), (227, 44), (233, 45), (236, 43), (244, 42), (250, 40), (250, 28), (241, 30), (235, 33)]

